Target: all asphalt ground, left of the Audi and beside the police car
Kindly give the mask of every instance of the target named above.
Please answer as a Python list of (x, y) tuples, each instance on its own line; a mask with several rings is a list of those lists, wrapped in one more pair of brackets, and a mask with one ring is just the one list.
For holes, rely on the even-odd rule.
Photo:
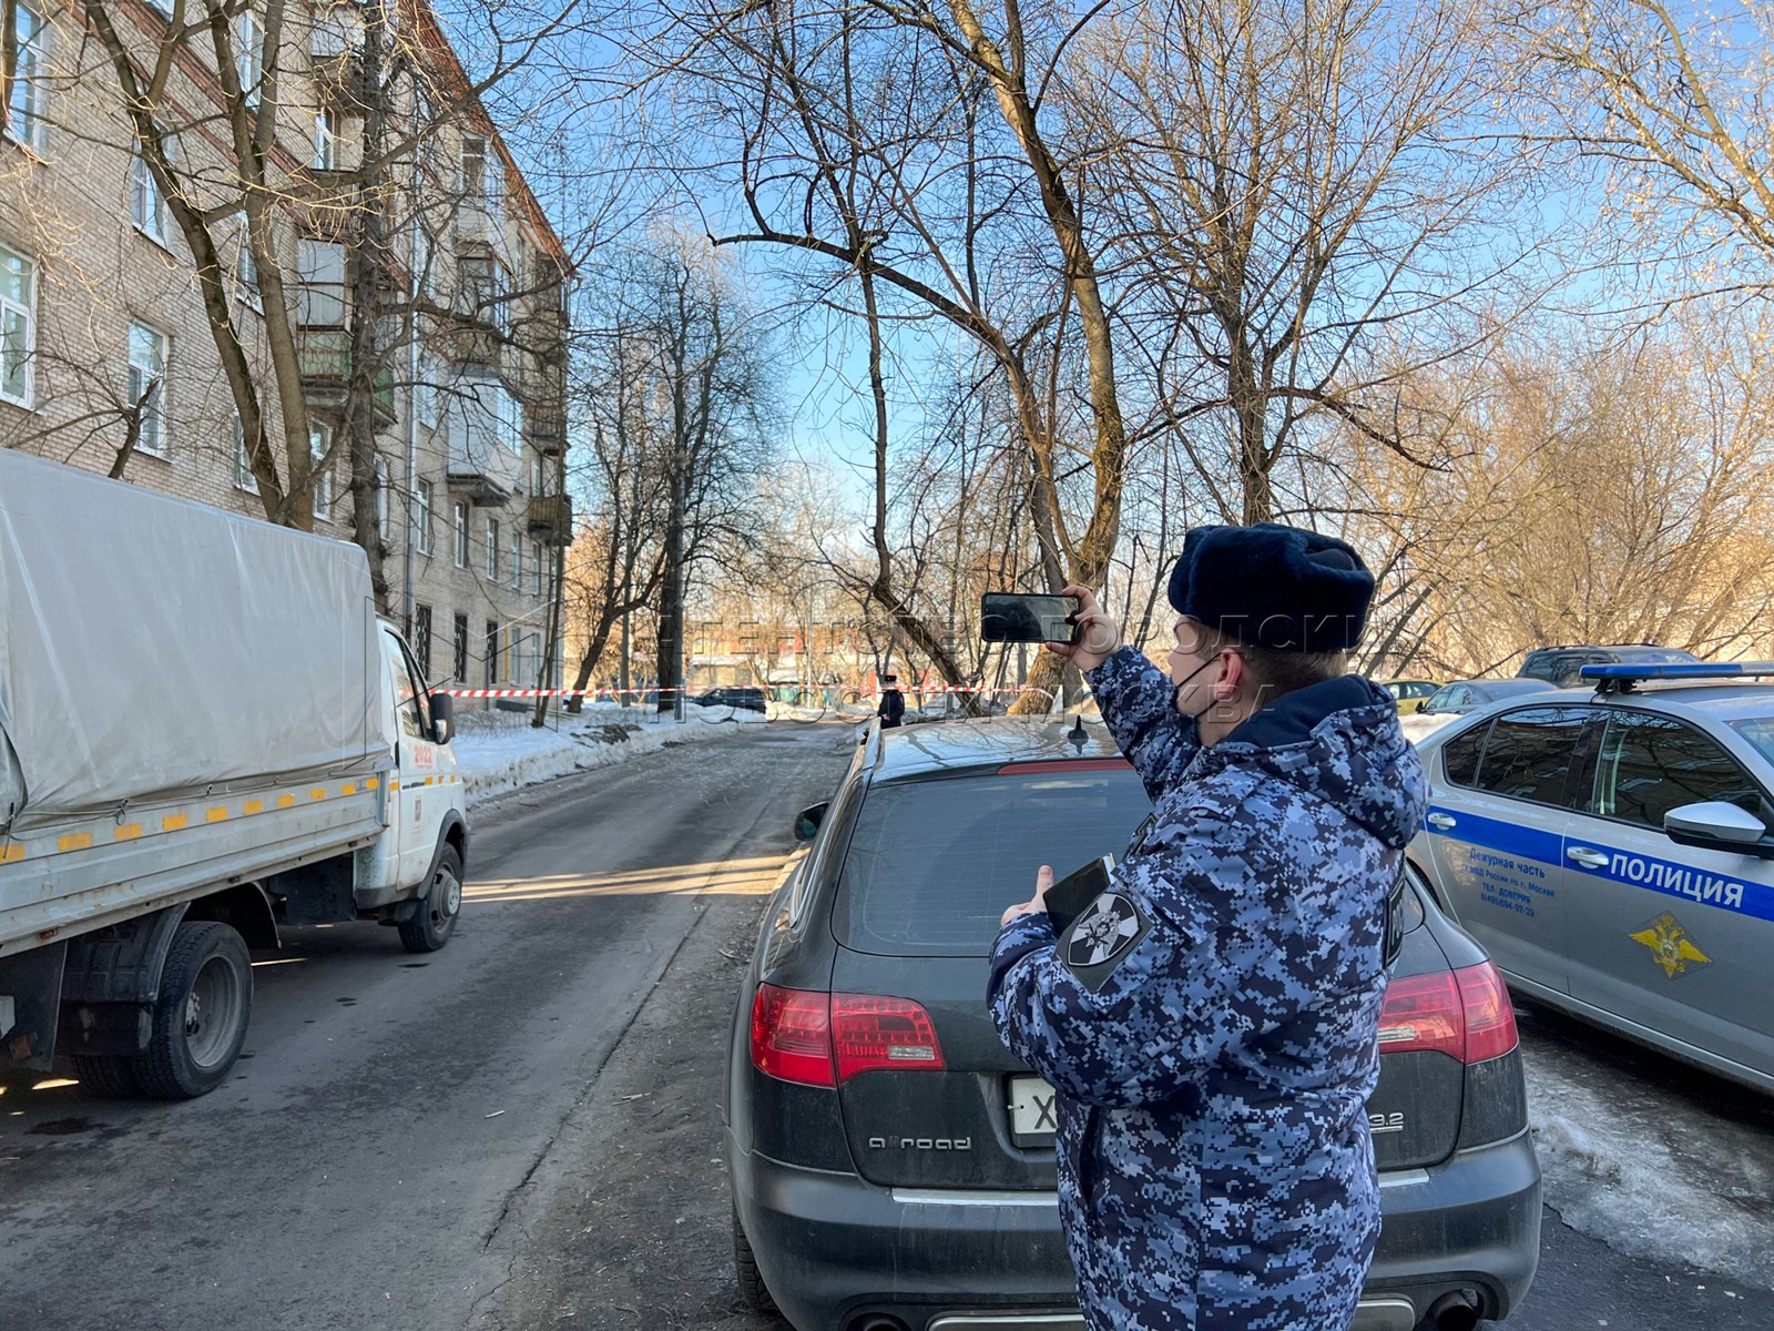
[[(252, 1058), (206, 1100), (5, 1081), (0, 1331), (773, 1327), (733, 1283), (720, 1059), (788, 820), (848, 752), (844, 726), (773, 724), (481, 811), (451, 946), (302, 932), (261, 958)], [(1522, 1035), (1542, 1109), (1613, 1146), (1549, 1164), (1504, 1326), (1774, 1326), (1760, 1267), (1685, 1264), (1607, 1203), (1664, 1180), (1643, 1210), (1717, 1265), (1715, 1226), (1774, 1209), (1770, 1102), (1538, 1010)], [(1644, 1146), (1625, 1178), (1621, 1139)]]

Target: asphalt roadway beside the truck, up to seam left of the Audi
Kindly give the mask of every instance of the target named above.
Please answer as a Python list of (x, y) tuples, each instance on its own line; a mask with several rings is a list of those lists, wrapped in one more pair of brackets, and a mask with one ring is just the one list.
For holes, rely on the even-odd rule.
[(296, 932), (255, 958), (247, 1052), (202, 1100), (5, 1081), (0, 1327), (467, 1326), (642, 999), (711, 905), (768, 889), (852, 742), (770, 726), (483, 811), (451, 944)]

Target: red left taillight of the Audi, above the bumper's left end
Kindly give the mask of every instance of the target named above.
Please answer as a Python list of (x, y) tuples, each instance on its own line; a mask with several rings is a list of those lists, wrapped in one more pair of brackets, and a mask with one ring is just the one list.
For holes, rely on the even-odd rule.
[(946, 1065), (930, 1013), (910, 999), (759, 985), (752, 1067), (802, 1086), (837, 1086), (873, 1068), (940, 1072)]

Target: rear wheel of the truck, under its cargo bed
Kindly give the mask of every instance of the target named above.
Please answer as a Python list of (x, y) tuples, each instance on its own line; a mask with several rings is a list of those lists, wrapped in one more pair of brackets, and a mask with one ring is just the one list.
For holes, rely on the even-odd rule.
[(142, 1091), (192, 1100), (227, 1077), (252, 1019), (252, 958), (239, 933), (215, 921), (179, 925), (160, 971)]

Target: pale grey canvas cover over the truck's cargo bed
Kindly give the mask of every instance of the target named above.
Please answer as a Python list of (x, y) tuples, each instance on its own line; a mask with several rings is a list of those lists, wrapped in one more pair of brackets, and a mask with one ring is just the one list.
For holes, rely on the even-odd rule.
[(355, 545), (0, 449), (0, 834), (387, 765), (378, 632)]

